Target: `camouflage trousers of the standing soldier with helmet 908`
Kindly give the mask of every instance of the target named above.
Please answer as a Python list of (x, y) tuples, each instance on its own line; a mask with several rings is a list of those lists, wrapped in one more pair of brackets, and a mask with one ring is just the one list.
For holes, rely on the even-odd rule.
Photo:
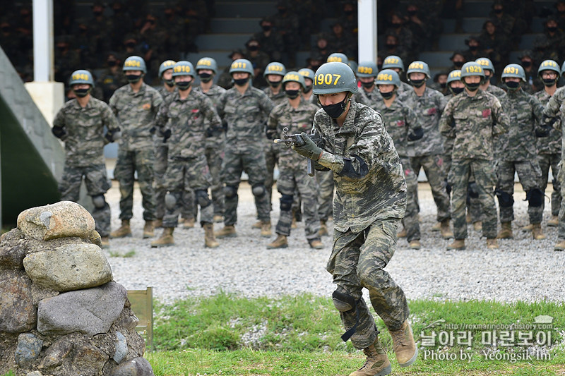
[(187, 189), (193, 190), (200, 205), (200, 223), (213, 222), (214, 208), (208, 197), (210, 171), (203, 155), (196, 158), (169, 158), (165, 172), (165, 217), (163, 227), (177, 227), (182, 210), (182, 196)]

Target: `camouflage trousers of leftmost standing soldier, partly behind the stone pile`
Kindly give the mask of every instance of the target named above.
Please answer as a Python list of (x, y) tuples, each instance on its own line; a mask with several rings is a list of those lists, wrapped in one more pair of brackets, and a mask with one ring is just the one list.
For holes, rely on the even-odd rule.
[[(65, 164), (63, 177), (59, 183), (59, 192), (61, 192), (61, 201), (78, 202), (81, 195), (81, 183), (86, 186), (86, 193), (90, 197), (104, 195), (110, 188), (110, 183), (106, 176), (106, 166), (104, 164), (95, 164), (92, 166), (71, 166)], [(93, 207), (91, 212), (96, 224), (96, 231), (102, 237), (110, 234), (110, 207), (107, 202), (104, 207)]]

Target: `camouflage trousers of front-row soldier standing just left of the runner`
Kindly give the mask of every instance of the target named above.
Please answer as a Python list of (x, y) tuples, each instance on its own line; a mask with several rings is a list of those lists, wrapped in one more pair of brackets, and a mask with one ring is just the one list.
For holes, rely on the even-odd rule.
[[(290, 160), (287, 161), (285, 159)], [(318, 231), (320, 231), (320, 219), (318, 217), (316, 180), (308, 176), (304, 163), (293, 163), (296, 159), (294, 156), (291, 158), (280, 158), (280, 174), (278, 176), (277, 189), (283, 196), (280, 198), (280, 217), (275, 231), (279, 235), (290, 235), (292, 206), (298, 191), (300, 199), (304, 203), (304, 232), (308, 241), (312, 241), (320, 238), (318, 234)]]

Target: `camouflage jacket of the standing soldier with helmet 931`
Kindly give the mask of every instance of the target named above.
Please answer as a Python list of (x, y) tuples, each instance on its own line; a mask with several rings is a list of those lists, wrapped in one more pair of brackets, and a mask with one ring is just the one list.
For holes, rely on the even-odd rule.
[[(533, 95), (517, 90), (502, 99), (504, 114), (509, 118), (508, 133), (496, 140), (496, 151), (503, 161), (533, 161), (537, 155), (535, 128), (543, 121), (543, 107)], [(537, 120), (537, 124), (536, 121)]]

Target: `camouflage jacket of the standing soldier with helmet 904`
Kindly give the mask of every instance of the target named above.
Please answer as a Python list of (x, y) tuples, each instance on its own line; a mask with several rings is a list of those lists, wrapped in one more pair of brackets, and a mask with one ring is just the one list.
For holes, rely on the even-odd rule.
[[(163, 99), (157, 90), (143, 83), (138, 92), (124, 85), (114, 92), (109, 106), (119, 120), (123, 150), (144, 150), (153, 145), (152, 128)], [(154, 128), (153, 128), (154, 129)]]

